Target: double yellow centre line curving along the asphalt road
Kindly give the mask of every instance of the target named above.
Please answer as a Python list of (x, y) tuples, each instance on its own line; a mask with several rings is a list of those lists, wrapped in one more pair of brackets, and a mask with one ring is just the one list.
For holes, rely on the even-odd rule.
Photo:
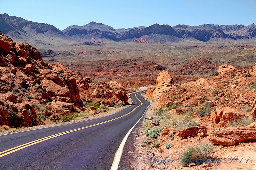
[[(140, 92), (142, 93), (142, 92)], [(136, 95), (140, 94), (140, 93), (137, 93)], [(8, 150), (5, 150), (5, 151), (2, 151), (0, 152), (0, 157), (3, 157), (5, 155), (8, 155), (10, 153), (13, 153), (13, 152), (16, 152), (18, 150), (21, 150), (23, 148), (27, 148), (29, 146), (32, 146), (32, 145), (35, 145), (37, 143), (40, 143), (42, 141), (45, 141), (45, 140), (48, 140), (48, 139), (52, 139), (52, 138), (55, 138), (55, 137), (58, 137), (58, 136), (61, 136), (61, 135), (65, 135), (65, 134), (68, 134), (68, 133), (71, 133), (71, 132), (75, 132), (75, 131), (79, 131), (79, 130), (82, 130), (82, 129), (86, 129), (86, 128), (90, 128), (90, 127), (93, 127), (93, 126), (96, 126), (96, 125), (99, 125), (99, 124), (103, 124), (103, 123), (107, 123), (107, 122), (111, 122), (113, 120), (116, 120), (116, 119), (120, 119), (126, 115), (129, 115), (130, 113), (132, 113), (136, 108), (140, 107), (143, 103), (142, 101), (135, 95), (135, 97), (141, 102), (141, 104), (137, 107), (135, 107), (134, 109), (132, 109), (131, 112), (123, 115), (123, 116), (120, 116), (120, 117), (117, 117), (117, 118), (114, 118), (114, 119), (111, 119), (111, 120), (107, 120), (107, 121), (104, 121), (104, 122), (100, 122), (100, 123), (96, 123), (96, 124), (92, 124), (92, 125), (89, 125), (89, 126), (85, 126), (85, 127), (82, 127), (82, 128), (77, 128), (77, 129), (73, 129), (73, 130), (70, 130), (70, 131), (66, 131), (66, 132), (61, 132), (61, 133), (57, 133), (55, 135), (51, 135), (51, 136), (47, 136), (47, 137), (44, 137), (44, 138), (41, 138), (41, 139), (37, 139), (37, 140), (33, 140), (31, 142), (28, 142), (28, 143), (24, 143), (22, 145), (19, 145), (19, 146), (16, 146), (14, 148), (11, 148), (11, 149), (8, 149)]]

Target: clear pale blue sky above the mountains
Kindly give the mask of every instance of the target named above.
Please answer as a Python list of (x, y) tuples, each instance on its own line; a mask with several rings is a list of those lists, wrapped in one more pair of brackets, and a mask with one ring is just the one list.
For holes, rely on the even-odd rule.
[(155, 23), (256, 24), (256, 0), (0, 0), (0, 7), (1, 14), (48, 23), (60, 30), (91, 21), (114, 29)]

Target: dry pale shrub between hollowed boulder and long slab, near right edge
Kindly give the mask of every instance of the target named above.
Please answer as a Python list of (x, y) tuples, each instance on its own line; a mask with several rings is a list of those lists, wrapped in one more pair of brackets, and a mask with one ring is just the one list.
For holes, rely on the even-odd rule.
[(244, 126), (248, 126), (252, 122), (256, 122), (256, 118), (255, 117), (242, 116), (242, 117), (240, 117), (238, 119), (233, 118), (229, 122), (228, 127), (241, 128), (241, 127), (244, 127)]

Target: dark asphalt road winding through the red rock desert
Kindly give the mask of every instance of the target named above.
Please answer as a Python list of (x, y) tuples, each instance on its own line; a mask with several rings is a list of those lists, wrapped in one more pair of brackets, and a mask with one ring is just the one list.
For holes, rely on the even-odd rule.
[(133, 104), (113, 115), (1, 135), (0, 169), (109, 170), (124, 136), (150, 105), (144, 92), (131, 94)]

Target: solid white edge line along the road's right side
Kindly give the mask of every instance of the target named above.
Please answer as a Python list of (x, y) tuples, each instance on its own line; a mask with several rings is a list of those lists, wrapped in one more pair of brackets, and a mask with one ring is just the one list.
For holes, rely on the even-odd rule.
[[(142, 97), (142, 94), (141, 94), (141, 97)], [(144, 98), (144, 97), (143, 97)], [(145, 99), (145, 98), (144, 98)], [(146, 99), (145, 99), (146, 100)], [(148, 100), (147, 100), (148, 101)], [(148, 101), (150, 102), (150, 101)], [(148, 107), (151, 106), (151, 102), (150, 102), (150, 105)], [(131, 131), (133, 130), (133, 128), (139, 123), (139, 121), (141, 120), (141, 118), (145, 115), (148, 107), (146, 108), (144, 114), (140, 117), (140, 119), (132, 126), (132, 128), (127, 132), (127, 134), (125, 135), (124, 139), (122, 140), (122, 142), (120, 143), (120, 146), (119, 148), (117, 149), (116, 153), (115, 153), (115, 157), (114, 157), (114, 160), (113, 160), (113, 163), (112, 163), (112, 166), (111, 166), (111, 169), (110, 170), (117, 170), (118, 169), (118, 165), (119, 165), (119, 162), (120, 162), (120, 159), (121, 159), (121, 156), (122, 156), (122, 153), (123, 153), (123, 150), (124, 150), (124, 146), (125, 146), (125, 142), (128, 138), (128, 136), (130, 135)]]

